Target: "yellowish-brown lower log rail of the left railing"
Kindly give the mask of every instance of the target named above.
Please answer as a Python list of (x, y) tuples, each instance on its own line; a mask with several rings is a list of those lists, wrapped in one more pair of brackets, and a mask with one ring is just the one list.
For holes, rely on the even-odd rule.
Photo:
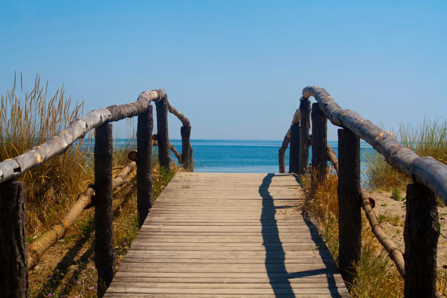
[[(132, 152), (132, 151), (131, 151)], [(126, 183), (126, 177), (134, 170), (135, 161), (126, 164), (124, 168), (112, 180), (112, 190)], [(80, 193), (78, 200), (68, 210), (61, 222), (55, 223), (49, 230), (45, 231), (28, 247), (28, 270), (33, 269), (39, 263), (40, 257), (62, 239), (67, 231), (72, 227), (73, 223), (80, 216), (83, 210), (94, 206), (95, 185), (89, 185), (84, 193)]]

